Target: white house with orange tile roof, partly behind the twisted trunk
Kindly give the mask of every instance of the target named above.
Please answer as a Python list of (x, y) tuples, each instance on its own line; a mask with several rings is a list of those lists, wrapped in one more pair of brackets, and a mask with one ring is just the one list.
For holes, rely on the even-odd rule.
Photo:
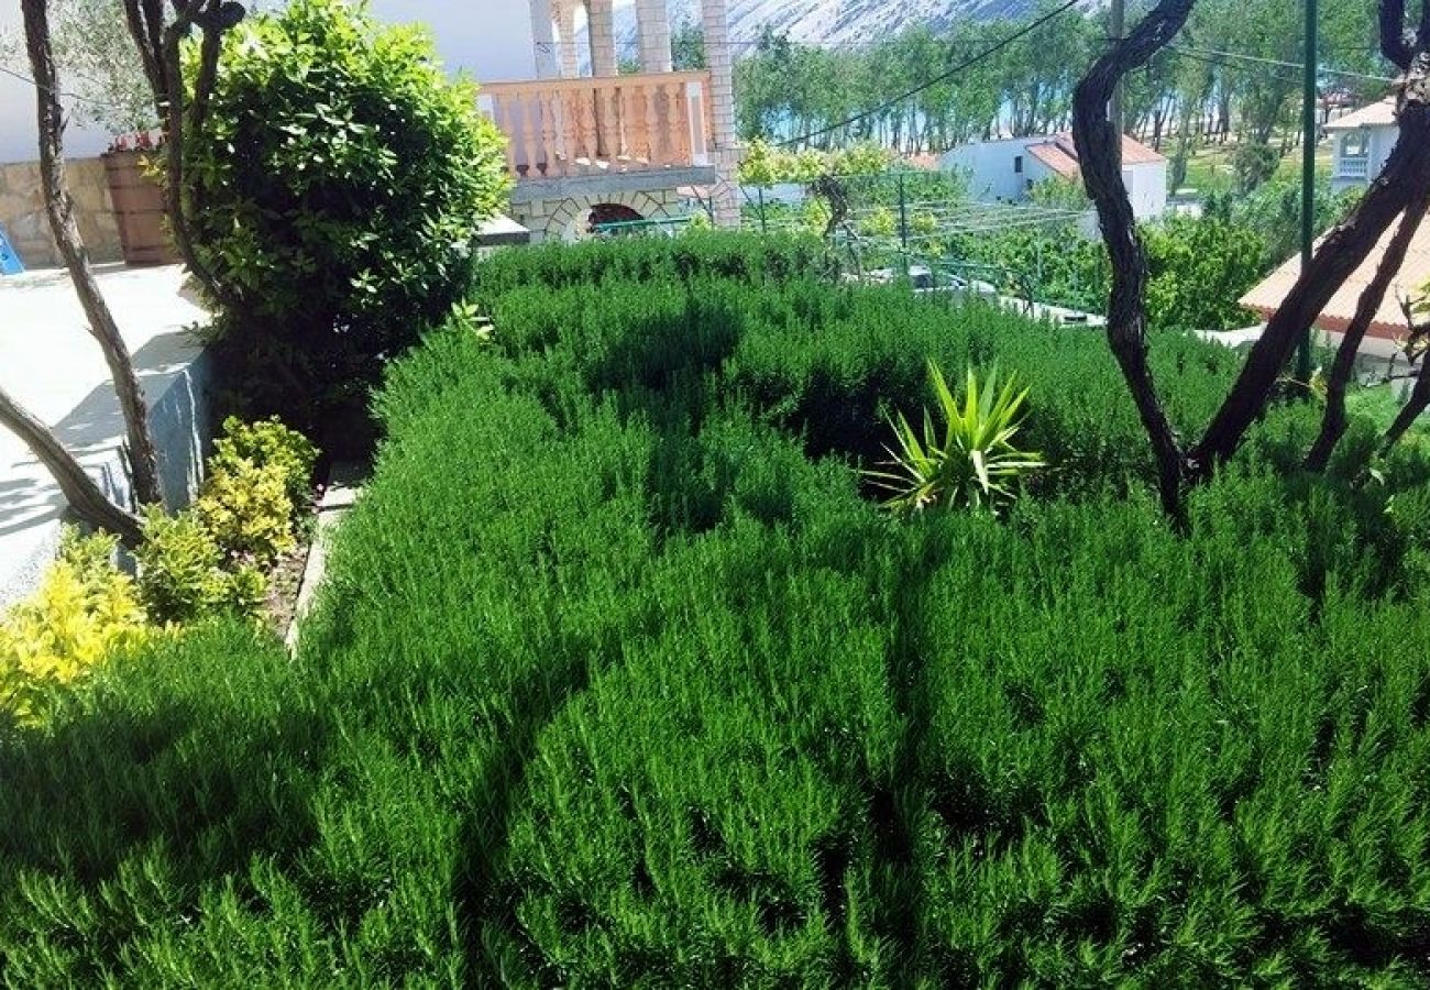
[[(1014, 137), (964, 144), (942, 159), (945, 169), (968, 175), (968, 192), (985, 202), (1020, 203), (1047, 179), (1077, 179), (1072, 134)], [(1167, 212), (1167, 159), (1131, 137), (1123, 137), (1123, 180), (1137, 219)]]

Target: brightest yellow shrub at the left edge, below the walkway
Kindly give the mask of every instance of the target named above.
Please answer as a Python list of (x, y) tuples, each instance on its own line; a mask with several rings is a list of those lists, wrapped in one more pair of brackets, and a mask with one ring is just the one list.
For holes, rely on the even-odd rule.
[(144, 609), (113, 554), (112, 536), (67, 531), (39, 591), (0, 617), (0, 721), (34, 721), (46, 691), (144, 639)]

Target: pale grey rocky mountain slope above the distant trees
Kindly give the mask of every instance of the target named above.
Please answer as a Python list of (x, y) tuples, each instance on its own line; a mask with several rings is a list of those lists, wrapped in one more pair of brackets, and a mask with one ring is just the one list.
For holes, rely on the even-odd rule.
[[(765, 27), (788, 31), (805, 44), (861, 44), (912, 24), (941, 27), (964, 17), (1018, 17), (1035, 0), (728, 0), (731, 36), (736, 46), (759, 37)], [(701, 0), (669, 0), (671, 23), (699, 23)], [(626, 46), (636, 37), (635, 7), (616, 13), (616, 37)]]

